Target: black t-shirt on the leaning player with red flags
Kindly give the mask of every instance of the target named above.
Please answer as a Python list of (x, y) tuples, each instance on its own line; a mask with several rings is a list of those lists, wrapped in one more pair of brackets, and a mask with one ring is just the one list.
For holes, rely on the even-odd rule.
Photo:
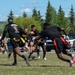
[(49, 37), (50, 39), (54, 39), (56, 37), (60, 37), (61, 28), (57, 26), (48, 27), (41, 32), (42, 37)]

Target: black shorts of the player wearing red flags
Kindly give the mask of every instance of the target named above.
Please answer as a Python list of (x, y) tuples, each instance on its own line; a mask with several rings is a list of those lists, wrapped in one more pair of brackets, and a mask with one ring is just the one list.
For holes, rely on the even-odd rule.
[(56, 38), (56, 43), (57, 43), (57, 48), (55, 49), (56, 53), (66, 53), (66, 48), (64, 43), (62, 42), (62, 40), (60, 38)]

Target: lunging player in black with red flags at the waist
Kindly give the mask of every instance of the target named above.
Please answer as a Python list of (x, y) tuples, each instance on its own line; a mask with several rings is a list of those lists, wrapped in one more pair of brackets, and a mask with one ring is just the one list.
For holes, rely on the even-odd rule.
[[(62, 35), (60, 34), (60, 32), (63, 31), (64, 34), (65, 30), (64, 28), (60, 28), (57, 26), (50, 26), (48, 23), (44, 23), (44, 27), (43, 27), (43, 31), (41, 32), (41, 36), (42, 37), (49, 37), (55, 46), (55, 52), (58, 56), (59, 59), (66, 61), (70, 64), (70, 66), (72, 66), (73, 59), (74, 59), (74, 54), (71, 54), (70, 52), (68, 52), (66, 49), (70, 47), (70, 44), (66, 42), (66, 40), (62, 37)], [(65, 57), (62, 56), (62, 53), (65, 55), (68, 55), (72, 58), (72, 60), (69, 60)]]

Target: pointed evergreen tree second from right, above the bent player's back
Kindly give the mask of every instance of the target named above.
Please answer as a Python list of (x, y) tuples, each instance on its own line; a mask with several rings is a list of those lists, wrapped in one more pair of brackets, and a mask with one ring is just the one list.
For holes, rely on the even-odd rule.
[(65, 17), (65, 13), (61, 6), (59, 6), (59, 10), (57, 13), (57, 25), (59, 27), (63, 27), (68, 31), (68, 19)]

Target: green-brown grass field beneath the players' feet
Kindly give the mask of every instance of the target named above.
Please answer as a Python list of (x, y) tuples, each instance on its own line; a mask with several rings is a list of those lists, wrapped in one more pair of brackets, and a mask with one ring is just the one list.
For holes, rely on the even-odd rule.
[(27, 66), (18, 56), (18, 65), (11, 66), (13, 55), (8, 59), (7, 54), (0, 54), (0, 75), (75, 75), (75, 64), (69, 67), (69, 64), (59, 60), (55, 53), (47, 53), (46, 61), (42, 59), (42, 53), (40, 56), (40, 59), (30, 60), (31, 66)]

